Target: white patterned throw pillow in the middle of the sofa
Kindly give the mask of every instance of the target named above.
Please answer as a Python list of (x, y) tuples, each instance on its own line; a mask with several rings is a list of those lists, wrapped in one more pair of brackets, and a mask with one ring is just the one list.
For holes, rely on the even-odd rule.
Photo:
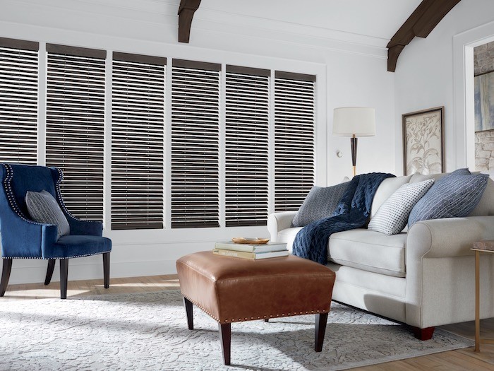
[(368, 229), (385, 235), (397, 235), (406, 227), (410, 211), (432, 187), (434, 179), (418, 183), (405, 183), (378, 208)]

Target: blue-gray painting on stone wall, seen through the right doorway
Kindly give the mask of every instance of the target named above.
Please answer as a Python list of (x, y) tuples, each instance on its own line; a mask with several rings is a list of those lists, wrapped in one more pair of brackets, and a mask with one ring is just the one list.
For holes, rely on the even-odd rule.
[(494, 129), (494, 71), (475, 77), (475, 131)]

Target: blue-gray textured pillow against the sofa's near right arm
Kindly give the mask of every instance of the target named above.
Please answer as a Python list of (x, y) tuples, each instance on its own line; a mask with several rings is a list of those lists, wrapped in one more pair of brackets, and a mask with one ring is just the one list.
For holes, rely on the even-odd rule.
[(411, 210), (409, 228), (420, 220), (468, 216), (481, 200), (488, 179), (487, 174), (471, 175), (468, 169), (438, 179)]

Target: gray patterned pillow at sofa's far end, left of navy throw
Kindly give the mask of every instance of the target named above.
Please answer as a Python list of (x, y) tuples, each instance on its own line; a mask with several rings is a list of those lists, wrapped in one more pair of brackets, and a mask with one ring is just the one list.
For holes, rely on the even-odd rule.
[(312, 187), (291, 222), (291, 226), (305, 227), (315, 220), (332, 216), (347, 187), (348, 182), (332, 187)]

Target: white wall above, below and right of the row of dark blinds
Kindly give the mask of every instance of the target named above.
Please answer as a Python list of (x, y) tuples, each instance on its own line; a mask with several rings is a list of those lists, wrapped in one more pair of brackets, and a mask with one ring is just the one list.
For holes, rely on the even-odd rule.
[[(358, 172), (395, 172), (394, 74), (386, 71), (382, 40), (359, 35), (335, 40), (317, 29), (294, 33), (291, 23), (267, 23), (249, 16), (231, 19), (228, 13), (199, 8), (190, 44), (179, 44), (178, 4), (178, 0), (2, 0), (0, 37), (39, 41), (41, 50), (44, 42), (53, 42), (314, 73), (318, 75), (317, 184), (335, 184), (351, 176), (349, 139), (331, 136), (333, 108), (347, 105), (376, 110), (378, 134), (360, 139)], [(343, 158), (337, 158), (338, 149)], [(104, 235), (113, 241), (112, 277), (121, 277), (174, 273), (174, 262), (183, 254), (211, 249), (215, 240), (236, 235), (266, 236), (267, 230), (106, 230)], [(73, 259), (69, 279), (100, 278), (100, 259)], [(11, 283), (40, 282), (45, 267), (43, 261), (15, 261)], [(56, 271), (54, 281), (58, 279)]]

